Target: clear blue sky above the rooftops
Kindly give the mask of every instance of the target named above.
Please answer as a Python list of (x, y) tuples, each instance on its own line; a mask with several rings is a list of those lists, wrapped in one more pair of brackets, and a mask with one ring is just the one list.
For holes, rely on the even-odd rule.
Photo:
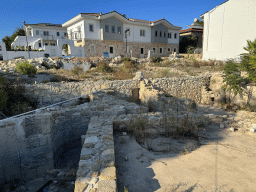
[(225, 0), (0, 0), (0, 41), (23, 21), (62, 24), (79, 13), (116, 10), (128, 18), (154, 21), (165, 18), (186, 29), (194, 18)]

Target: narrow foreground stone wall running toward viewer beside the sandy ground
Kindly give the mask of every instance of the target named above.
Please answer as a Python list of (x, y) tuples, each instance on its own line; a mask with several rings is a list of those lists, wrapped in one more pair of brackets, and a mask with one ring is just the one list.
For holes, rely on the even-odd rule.
[(117, 191), (112, 121), (92, 117), (84, 139), (75, 192)]

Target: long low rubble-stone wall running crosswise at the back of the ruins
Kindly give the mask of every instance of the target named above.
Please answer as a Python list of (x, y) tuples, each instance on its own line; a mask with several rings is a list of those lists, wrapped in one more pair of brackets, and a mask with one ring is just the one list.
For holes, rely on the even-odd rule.
[[(187, 77), (187, 78), (162, 78), (144, 79), (147, 86), (163, 91), (178, 98), (192, 99), (197, 103), (201, 102), (202, 86), (209, 84), (210, 76)], [(121, 86), (117, 86), (121, 85)], [(120, 98), (133, 96), (133, 90), (140, 88), (140, 81), (84, 81), (84, 82), (50, 82), (40, 84), (25, 84), (25, 93), (32, 98), (38, 98), (40, 106), (64, 101), (70, 98), (82, 96), (101, 89), (117, 86), (114, 94)], [(143, 94), (141, 89), (139, 95)]]

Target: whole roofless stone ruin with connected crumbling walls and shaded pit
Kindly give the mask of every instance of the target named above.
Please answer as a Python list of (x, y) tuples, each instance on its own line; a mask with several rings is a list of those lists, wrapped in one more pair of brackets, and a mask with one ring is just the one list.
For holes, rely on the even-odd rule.
[[(77, 99), (0, 121), (0, 184), (48, 174), (48, 180), (74, 181), (75, 192), (116, 191), (114, 131), (140, 115), (158, 126), (163, 112), (175, 114), (177, 107), (178, 118), (191, 109), (195, 123), (208, 124), (209, 115), (196, 111), (209, 101), (209, 85), (210, 76), (144, 79), (142, 73), (131, 81), (27, 84), (26, 94), (39, 96), (42, 107)], [(79, 98), (86, 94), (87, 100)], [(56, 170), (59, 158), (74, 149), (81, 151), (72, 165), (77, 169)]]

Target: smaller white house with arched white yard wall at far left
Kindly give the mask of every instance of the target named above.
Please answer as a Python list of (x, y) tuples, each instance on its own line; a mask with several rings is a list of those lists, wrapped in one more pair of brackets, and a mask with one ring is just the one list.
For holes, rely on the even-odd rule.
[(0, 60), (62, 56), (63, 45), (67, 45), (70, 55), (85, 56), (84, 49), (74, 46), (74, 41), (67, 38), (67, 29), (61, 25), (25, 24), (25, 31), (26, 36), (17, 36), (12, 43), (11, 46), (15, 51), (6, 51), (5, 44), (1, 42)]

